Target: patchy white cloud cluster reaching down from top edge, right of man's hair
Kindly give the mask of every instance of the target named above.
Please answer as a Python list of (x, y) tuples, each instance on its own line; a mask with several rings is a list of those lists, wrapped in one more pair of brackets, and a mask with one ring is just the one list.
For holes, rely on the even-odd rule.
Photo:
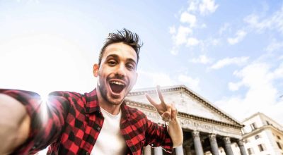
[[(178, 28), (175, 28), (175, 26), (169, 27), (169, 32), (173, 39), (173, 48), (171, 49), (171, 54), (177, 55), (179, 46), (183, 44), (186, 46), (198, 45), (198, 47), (204, 51), (204, 43), (206, 42), (204, 42), (204, 39), (197, 39), (195, 36), (192, 36), (192, 32), (195, 29), (207, 28), (206, 23), (198, 22), (198, 18), (200, 16), (206, 16), (210, 13), (214, 13), (218, 6), (219, 5), (215, 4), (214, 0), (190, 0), (187, 10), (179, 11), (180, 24), (182, 25), (180, 25)], [(219, 44), (219, 40), (214, 40), (214, 42), (209, 42), (209, 44), (217, 45)]]

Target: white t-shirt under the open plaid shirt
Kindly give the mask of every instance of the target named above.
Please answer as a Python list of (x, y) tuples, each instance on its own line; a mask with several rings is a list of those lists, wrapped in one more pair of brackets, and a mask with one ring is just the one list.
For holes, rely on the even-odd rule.
[(121, 110), (117, 115), (112, 115), (100, 107), (104, 122), (91, 155), (121, 155), (125, 154), (127, 145), (120, 133)]

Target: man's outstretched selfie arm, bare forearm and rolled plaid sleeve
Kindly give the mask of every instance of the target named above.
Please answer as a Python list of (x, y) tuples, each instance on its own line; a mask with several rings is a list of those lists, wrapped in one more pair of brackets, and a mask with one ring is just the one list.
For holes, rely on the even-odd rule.
[(52, 92), (45, 100), (17, 89), (0, 89), (0, 95), (0, 154), (35, 154), (58, 140), (71, 96)]

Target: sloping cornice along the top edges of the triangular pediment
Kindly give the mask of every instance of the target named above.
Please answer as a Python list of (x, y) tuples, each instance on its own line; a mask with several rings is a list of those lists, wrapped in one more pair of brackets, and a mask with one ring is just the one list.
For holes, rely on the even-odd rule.
[[(209, 101), (204, 99), (203, 97), (200, 96), (200, 94), (197, 94), (196, 92), (193, 92), (191, 89), (185, 87), (185, 85), (177, 85), (177, 86), (171, 86), (171, 87), (161, 87), (161, 92), (185, 92), (189, 94), (191, 97), (194, 99), (197, 99), (197, 101), (200, 101), (200, 103), (204, 104), (207, 106), (209, 109), (212, 109), (215, 113), (218, 113), (219, 115), (223, 116), (227, 120), (232, 121), (233, 123), (236, 124), (236, 126), (244, 126), (242, 123), (238, 122), (234, 118), (231, 118), (231, 116), (227, 115), (226, 113), (222, 112), (217, 108), (216, 106), (212, 105)], [(130, 92), (127, 96), (128, 97), (133, 97), (137, 95), (144, 95), (144, 94), (156, 94), (156, 89), (154, 87), (147, 88), (147, 89), (137, 89), (134, 90), (133, 92)]]

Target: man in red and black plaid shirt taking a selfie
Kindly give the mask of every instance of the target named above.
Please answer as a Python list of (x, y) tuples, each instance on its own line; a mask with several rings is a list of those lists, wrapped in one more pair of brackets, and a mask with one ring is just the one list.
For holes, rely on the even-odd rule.
[(111, 33), (100, 51), (93, 75), (96, 89), (79, 94), (52, 92), (47, 103), (38, 94), (0, 89), (0, 154), (141, 154), (148, 144), (171, 152), (183, 144), (183, 132), (173, 104), (146, 98), (166, 126), (148, 120), (125, 105), (137, 80), (139, 36), (129, 30)]

